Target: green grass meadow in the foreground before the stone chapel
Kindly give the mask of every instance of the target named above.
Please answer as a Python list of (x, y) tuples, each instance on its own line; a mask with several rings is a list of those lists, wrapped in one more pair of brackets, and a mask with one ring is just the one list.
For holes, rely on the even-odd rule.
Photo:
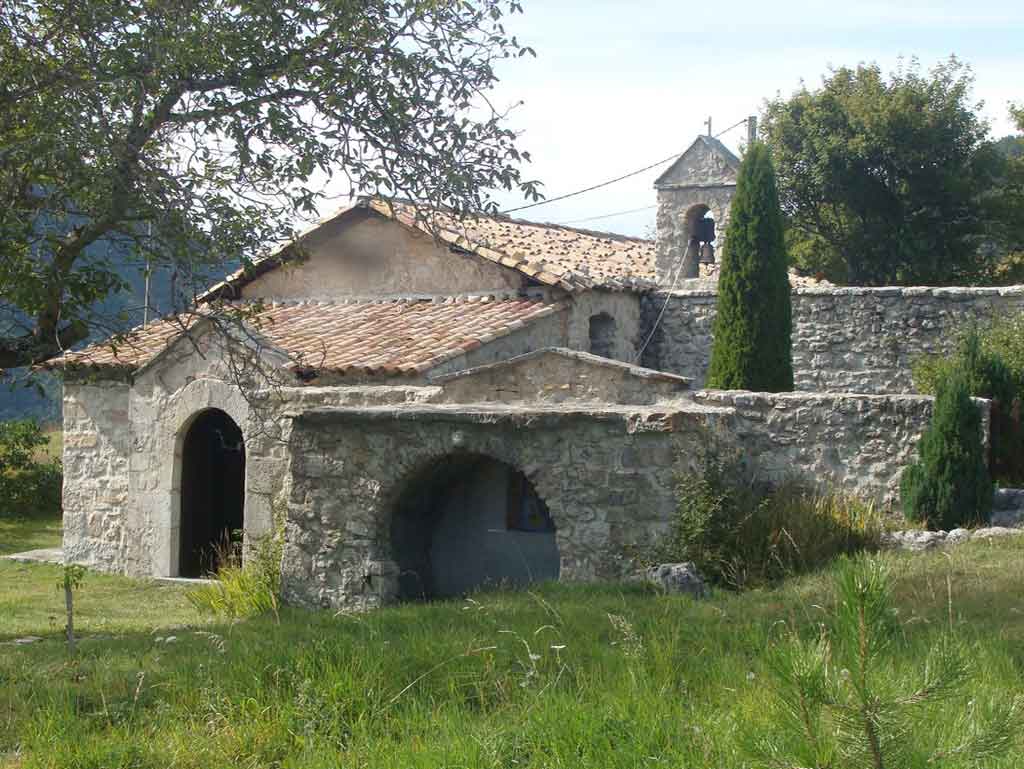
[[(894, 678), (951, 624), (972, 647), (966, 696), (1024, 689), (1024, 543), (876, 557), (897, 574)], [(46, 636), (0, 647), (10, 766), (738, 769), (742, 736), (773, 728), (766, 648), (785, 627), (813, 636), (833, 602), (825, 570), (699, 603), (545, 585), (200, 626), (182, 588), (90, 573), (71, 659), (48, 620), (56, 573), (0, 567), (0, 633)], [(907, 738), (941, 741), (959, 707)]]

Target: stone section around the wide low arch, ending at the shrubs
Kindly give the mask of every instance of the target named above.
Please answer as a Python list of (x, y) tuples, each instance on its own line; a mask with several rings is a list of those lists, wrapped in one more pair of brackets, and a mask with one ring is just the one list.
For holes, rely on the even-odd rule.
[(522, 471), (556, 526), (563, 580), (621, 573), (626, 545), (651, 541), (674, 508), (680, 448), (703, 414), (424, 405), (313, 410), (296, 417), (284, 588), (307, 606), (392, 600), (390, 523), (406, 484), (453, 454)]

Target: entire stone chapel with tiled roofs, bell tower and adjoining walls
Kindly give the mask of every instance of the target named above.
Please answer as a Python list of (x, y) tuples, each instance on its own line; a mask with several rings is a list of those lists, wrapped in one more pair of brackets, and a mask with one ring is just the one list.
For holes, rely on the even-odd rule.
[(655, 242), (359, 200), (68, 353), (67, 560), (199, 578), (283, 530), (286, 598), (336, 609), (614, 579), (712, 439), (894, 505), (931, 412), (913, 357), (1024, 289), (794, 276), (799, 391), (700, 389), (738, 163), (695, 140), (655, 184)]

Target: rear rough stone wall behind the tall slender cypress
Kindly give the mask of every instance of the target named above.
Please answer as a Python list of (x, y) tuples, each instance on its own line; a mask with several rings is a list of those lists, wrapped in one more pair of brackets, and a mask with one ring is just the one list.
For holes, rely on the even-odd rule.
[[(666, 300), (668, 305), (666, 307)], [(711, 356), (713, 291), (659, 292), (643, 299), (649, 334), (642, 362), (705, 380)], [(910, 369), (924, 353), (950, 348), (975, 321), (1024, 310), (1024, 286), (996, 288), (827, 288), (793, 294), (793, 362), (798, 390), (913, 392)]]

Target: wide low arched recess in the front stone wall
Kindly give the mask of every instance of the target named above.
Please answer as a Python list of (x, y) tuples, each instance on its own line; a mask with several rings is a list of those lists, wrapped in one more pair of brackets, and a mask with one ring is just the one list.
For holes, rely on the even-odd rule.
[(391, 548), (401, 599), (558, 578), (547, 504), (521, 472), (476, 454), (444, 457), (406, 484)]

